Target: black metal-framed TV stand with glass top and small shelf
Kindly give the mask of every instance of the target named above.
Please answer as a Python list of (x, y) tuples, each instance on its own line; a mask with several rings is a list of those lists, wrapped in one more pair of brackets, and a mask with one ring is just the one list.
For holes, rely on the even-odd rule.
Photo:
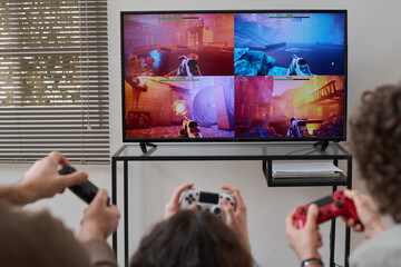
[[(216, 161), (257, 160), (268, 187), (352, 187), (352, 156), (338, 142), (330, 144), (324, 151), (312, 142), (264, 142), (264, 144), (135, 144), (123, 146), (111, 157), (111, 195), (117, 205), (117, 162), (124, 162), (124, 244), (125, 266), (128, 265), (128, 162), (129, 161)], [(272, 166), (283, 161), (345, 161), (346, 170), (339, 177), (274, 178)], [(332, 220), (330, 266), (334, 266), (335, 220)], [(117, 253), (117, 234), (113, 235), (113, 248)], [(350, 254), (350, 229), (345, 230), (345, 258)], [(346, 259), (344, 266), (348, 266)]]

